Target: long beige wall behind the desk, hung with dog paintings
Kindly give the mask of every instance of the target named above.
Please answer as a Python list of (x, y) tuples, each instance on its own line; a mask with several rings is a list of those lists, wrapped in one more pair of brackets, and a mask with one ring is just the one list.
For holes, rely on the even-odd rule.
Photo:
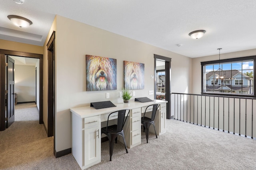
[[(89, 106), (90, 102), (105, 100), (113, 103), (122, 102), (118, 94), (123, 87), (124, 61), (145, 64), (145, 88), (134, 90), (135, 97), (154, 98), (153, 95), (148, 95), (149, 90), (154, 90), (154, 79), (150, 78), (150, 75), (154, 75), (154, 54), (172, 58), (171, 91), (190, 92), (192, 72), (190, 58), (61, 16), (56, 16), (54, 23), (56, 23), (55, 144), (57, 152), (72, 147), (70, 108)], [(46, 54), (45, 47), (44, 54)], [(117, 59), (117, 90), (86, 91), (85, 55)], [(46, 61), (44, 68), (45, 66)], [(45, 73), (44, 71), (44, 76)], [(106, 92), (110, 93), (109, 99), (106, 99)]]

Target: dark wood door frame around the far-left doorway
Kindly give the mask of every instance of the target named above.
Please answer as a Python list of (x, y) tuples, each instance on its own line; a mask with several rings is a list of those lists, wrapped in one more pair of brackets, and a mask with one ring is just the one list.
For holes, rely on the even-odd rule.
[(5, 130), (5, 56), (13, 55), (39, 59), (39, 123), (43, 124), (43, 55), (0, 49), (0, 131)]

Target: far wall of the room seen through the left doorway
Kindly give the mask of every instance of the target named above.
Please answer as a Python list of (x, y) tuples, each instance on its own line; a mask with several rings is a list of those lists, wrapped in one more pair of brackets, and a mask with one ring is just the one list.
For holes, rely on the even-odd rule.
[(18, 102), (35, 101), (35, 66), (15, 64), (15, 93), (18, 94)]

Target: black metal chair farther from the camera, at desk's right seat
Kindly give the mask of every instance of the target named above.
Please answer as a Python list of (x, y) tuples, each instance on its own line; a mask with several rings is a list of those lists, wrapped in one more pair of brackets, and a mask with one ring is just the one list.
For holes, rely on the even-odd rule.
[[(148, 108), (150, 106), (153, 106), (151, 118), (145, 117), (145, 114), (146, 114), (146, 112), (148, 112), (147, 110), (148, 110)], [(155, 129), (155, 133), (156, 133), (154, 119), (156, 117), (156, 110), (158, 109), (159, 104), (152, 104), (150, 106), (146, 107), (145, 113), (144, 113), (143, 117), (141, 118), (141, 123), (143, 125), (143, 131), (145, 132), (145, 129), (146, 129), (147, 143), (148, 143), (148, 134), (149, 134), (149, 127), (150, 127), (150, 125), (152, 125), (152, 124), (154, 125), (154, 129)], [(157, 138), (157, 135), (156, 135), (156, 138)]]

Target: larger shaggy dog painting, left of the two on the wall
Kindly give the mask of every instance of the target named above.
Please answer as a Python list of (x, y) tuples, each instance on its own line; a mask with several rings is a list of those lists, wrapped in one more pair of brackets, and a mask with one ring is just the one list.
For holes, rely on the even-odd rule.
[(86, 55), (87, 91), (116, 90), (116, 59)]

